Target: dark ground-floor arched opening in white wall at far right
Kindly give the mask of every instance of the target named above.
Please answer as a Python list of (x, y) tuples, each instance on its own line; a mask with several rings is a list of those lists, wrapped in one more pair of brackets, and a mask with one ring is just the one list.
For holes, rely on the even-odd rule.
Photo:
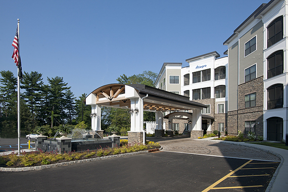
[(271, 117), (267, 119), (267, 139), (282, 141), (283, 139), (283, 119)]

